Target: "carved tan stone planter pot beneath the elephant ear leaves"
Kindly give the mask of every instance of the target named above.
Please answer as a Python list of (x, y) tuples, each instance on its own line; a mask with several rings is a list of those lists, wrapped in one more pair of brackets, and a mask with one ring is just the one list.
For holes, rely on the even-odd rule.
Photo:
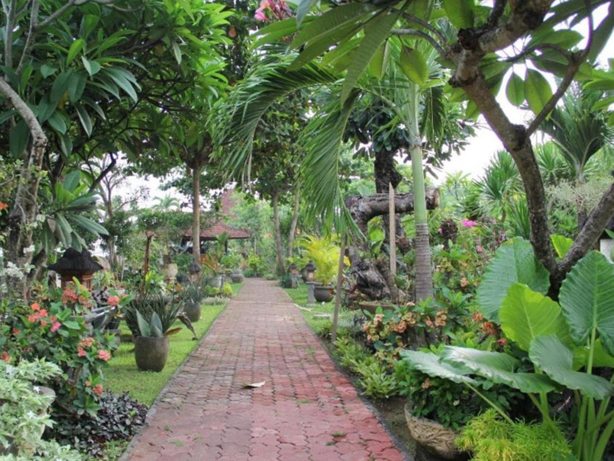
[(411, 438), (422, 448), (422, 460), (460, 461), (467, 459), (467, 454), (456, 447), (455, 441), (459, 436), (458, 433), (433, 420), (413, 416), (411, 414), (411, 403), (405, 405), (405, 420)]

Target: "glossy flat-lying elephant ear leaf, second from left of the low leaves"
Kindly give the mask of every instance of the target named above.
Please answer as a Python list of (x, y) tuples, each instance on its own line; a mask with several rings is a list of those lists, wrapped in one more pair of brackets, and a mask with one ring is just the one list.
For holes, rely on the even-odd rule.
[(555, 388), (548, 377), (535, 373), (516, 373), (518, 360), (501, 352), (487, 352), (469, 347), (446, 346), (441, 361), (466, 367), (473, 373), (498, 384), (506, 384), (522, 392), (550, 392)]

